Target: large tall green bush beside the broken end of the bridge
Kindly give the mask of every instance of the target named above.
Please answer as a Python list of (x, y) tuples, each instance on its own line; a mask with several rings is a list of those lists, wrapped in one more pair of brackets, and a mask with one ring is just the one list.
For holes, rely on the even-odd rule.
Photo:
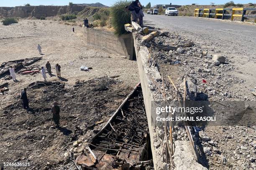
[(131, 0), (119, 0), (110, 9), (111, 24), (117, 35), (125, 32), (125, 24), (131, 23), (131, 13), (125, 11), (125, 6), (130, 4)]

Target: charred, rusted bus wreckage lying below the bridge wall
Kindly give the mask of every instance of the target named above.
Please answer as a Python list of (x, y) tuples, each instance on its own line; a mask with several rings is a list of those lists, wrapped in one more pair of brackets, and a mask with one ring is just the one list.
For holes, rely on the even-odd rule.
[[(141, 84), (76, 159), (82, 170), (140, 170), (152, 164)], [(148, 150), (150, 150), (148, 152)]]

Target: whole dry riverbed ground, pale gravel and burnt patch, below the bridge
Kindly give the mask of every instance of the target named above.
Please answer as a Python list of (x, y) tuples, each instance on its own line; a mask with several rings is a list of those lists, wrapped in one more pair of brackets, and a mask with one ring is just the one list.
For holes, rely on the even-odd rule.
[[(36, 110), (29, 114), (17, 99), (24, 87), (44, 80), (41, 73), (17, 74), (18, 82), (0, 80), (0, 84), (9, 82), (9, 91), (0, 95), (4, 108), (0, 114), (0, 162), (30, 163), (28, 168), (13, 169), (75, 169), (64, 156), (67, 149), (74, 149), (75, 140), (86, 143), (97, 133), (139, 82), (136, 61), (84, 46), (82, 27), (74, 26), (74, 33), (72, 28), (53, 20), (19, 20), (18, 24), (0, 25), (0, 63), (43, 57), (36, 64), (45, 67), (47, 61), (51, 63), (54, 76), (47, 75), (47, 80), (65, 85), (63, 89), (49, 86), (28, 90), (30, 106)], [(42, 55), (37, 51), (38, 44)], [(61, 65), (62, 79), (55, 76), (56, 63)], [(92, 70), (79, 70), (82, 65)], [(77, 81), (85, 83), (74, 89)], [(54, 101), (61, 107), (61, 129), (51, 128), (54, 122), (50, 108)], [(94, 127), (100, 120), (104, 122)]]

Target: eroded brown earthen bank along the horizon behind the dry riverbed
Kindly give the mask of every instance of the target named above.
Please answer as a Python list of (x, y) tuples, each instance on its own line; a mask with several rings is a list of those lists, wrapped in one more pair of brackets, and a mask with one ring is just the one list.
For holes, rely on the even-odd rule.
[(73, 5), (71, 7), (67, 5), (66, 6), (0, 7), (0, 18), (6, 18), (6, 17), (40, 18), (41, 16), (53, 17), (56, 15), (62, 15), (66, 13), (76, 13), (76, 14), (81, 13), (83, 16), (88, 16), (88, 15), (93, 15), (100, 10), (101, 10), (101, 7), (88, 7), (85, 5)]

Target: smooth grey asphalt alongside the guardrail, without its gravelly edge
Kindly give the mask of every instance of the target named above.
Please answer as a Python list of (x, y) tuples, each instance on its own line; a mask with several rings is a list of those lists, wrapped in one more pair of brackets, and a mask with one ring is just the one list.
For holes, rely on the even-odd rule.
[(224, 41), (225, 48), (236, 47), (246, 55), (256, 55), (256, 25), (195, 17), (147, 14), (144, 21), (149, 26), (183, 33), (194, 41), (197, 39), (206, 42)]

